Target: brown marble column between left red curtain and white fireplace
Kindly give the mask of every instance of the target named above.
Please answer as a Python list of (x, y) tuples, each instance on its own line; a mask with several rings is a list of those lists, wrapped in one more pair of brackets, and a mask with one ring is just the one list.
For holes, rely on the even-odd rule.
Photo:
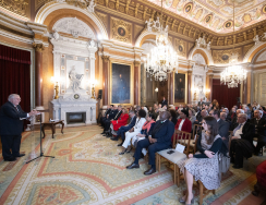
[(35, 106), (43, 110), (43, 44), (33, 43), (35, 48)]

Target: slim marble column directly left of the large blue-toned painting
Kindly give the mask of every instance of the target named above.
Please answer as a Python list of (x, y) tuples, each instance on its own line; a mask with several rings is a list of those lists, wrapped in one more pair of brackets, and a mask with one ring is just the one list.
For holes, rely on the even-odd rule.
[(102, 56), (102, 82), (104, 82), (104, 86), (102, 86), (102, 106), (107, 106), (108, 105), (108, 87), (109, 87), (109, 77), (108, 77), (108, 71), (109, 71), (109, 56)]

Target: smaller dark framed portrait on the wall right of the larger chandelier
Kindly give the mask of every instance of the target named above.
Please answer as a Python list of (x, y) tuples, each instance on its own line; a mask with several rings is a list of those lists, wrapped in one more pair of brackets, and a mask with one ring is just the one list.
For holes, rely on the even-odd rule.
[(174, 104), (185, 104), (185, 73), (174, 73)]

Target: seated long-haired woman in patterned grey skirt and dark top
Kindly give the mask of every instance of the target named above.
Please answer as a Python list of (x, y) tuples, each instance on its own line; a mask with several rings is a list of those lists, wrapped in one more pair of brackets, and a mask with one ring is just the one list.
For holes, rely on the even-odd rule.
[(185, 195), (180, 197), (180, 203), (194, 203), (193, 177), (195, 181), (201, 180), (207, 190), (217, 190), (220, 186), (218, 155), (219, 153), (226, 155), (228, 149), (218, 134), (218, 123), (215, 118), (205, 117), (203, 128), (204, 131), (197, 140), (197, 153), (190, 154), (189, 159), (178, 162), (188, 188)]

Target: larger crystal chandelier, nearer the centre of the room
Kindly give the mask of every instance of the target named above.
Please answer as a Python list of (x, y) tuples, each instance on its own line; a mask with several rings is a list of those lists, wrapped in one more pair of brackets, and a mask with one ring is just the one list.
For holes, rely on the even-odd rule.
[[(162, 20), (162, 1), (161, 1), (161, 17)], [(147, 60), (144, 63), (146, 72), (154, 77), (155, 81), (166, 81), (168, 73), (176, 71), (178, 68), (178, 55), (172, 46), (168, 43), (168, 25), (164, 28), (159, 17), (154, 22), (146, 22), (147, 29), (156, 31), (156, 47), (147, 55)], [(153, 26), (150, 26), (154, 24)]]

